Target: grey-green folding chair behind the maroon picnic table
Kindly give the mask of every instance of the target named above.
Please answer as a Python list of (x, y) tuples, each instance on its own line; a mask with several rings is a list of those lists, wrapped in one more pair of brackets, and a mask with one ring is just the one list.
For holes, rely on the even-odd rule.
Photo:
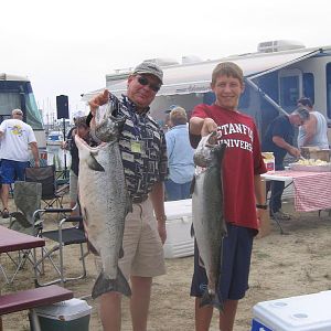
[[(9, 228), (34, 236), (38, 235), (39, 227), (38, 223), (34, 224), (33, 213), (36, 209), (40, 209), (41, 195), (41, 183), (15, 182), (13, 199), (18, 211), (10, 213)], [(0, 270), (3, 274), (7, 284), (12, 284), (14, 281), (15, 276), (24, 267), (26, 261), (34, 265), (33, 249), (19, 250), (17, 257), (13, 257), (13, 255), (9, 253), (7, 253), (7, 256), (15, 265), (15, 271), (11, 277), (9, 277), (3, 267), (0, 266)]]

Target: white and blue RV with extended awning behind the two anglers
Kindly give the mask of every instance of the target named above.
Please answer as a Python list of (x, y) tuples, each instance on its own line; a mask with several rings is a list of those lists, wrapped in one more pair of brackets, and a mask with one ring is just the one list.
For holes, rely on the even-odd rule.
[[(164, 84), (151, 105), (151, 114), (160, 122), (170, 105), (181, 105), (190, 111), (200, 103), (213, 103), (212, 71), (217, 63), (232, 61), (245, 75), (246, 89), (239, 109), (255, 118), (261, 132), (278, 111), (291, 113), (301, 96), (310, 97), (316, 110), (331, 124), (331, 46), (307, 49), (301, 43), (282, 40), (260, 43), (256, 53), (213, 61), (186, 58), (181, 64), (153, 61), (164, 72)], [(106, 75), (106, 87), (115, 95), (125, 93), (131, 70)], [(83, 99), (95, 93), (84, 95)]]

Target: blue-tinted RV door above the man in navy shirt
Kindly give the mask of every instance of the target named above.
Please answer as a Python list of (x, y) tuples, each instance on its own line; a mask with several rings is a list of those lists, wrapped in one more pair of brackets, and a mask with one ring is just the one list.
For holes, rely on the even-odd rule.
[(297, 108), (297, 100), (302, 95), (302, 73), (300, 70), (280, 70), (278, 74), (279, 103), (287, 111)]

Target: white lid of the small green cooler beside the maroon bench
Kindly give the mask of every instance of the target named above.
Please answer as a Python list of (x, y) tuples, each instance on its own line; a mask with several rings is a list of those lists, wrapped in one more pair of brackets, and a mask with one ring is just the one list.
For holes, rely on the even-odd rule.
[(71, 299), (35, 309), (38, 316), (53, 320), (71, 321), (90, 313), (92, 307), (85, 300)]

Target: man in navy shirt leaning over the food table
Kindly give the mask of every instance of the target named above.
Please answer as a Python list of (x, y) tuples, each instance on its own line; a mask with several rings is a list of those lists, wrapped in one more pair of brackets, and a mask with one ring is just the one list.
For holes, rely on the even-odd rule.
[[(284, 159), (287, 153), (295, 158), (300, 157), (300, 150), (293, 146), (295, 126), (302, 126), (309, 119), (309, 111), (298, 108), (290, 115), (276, 117), (267, 128), (263, 140), (263, 151), (274, 152), (275, 170), (284, 170)], [(281, 211), (281, 195), (285, 183), (281, 181), (267, 182), (267, 192), (271, 189), (269, 212), (277, 220), (289, 220), (290, 215)]]

